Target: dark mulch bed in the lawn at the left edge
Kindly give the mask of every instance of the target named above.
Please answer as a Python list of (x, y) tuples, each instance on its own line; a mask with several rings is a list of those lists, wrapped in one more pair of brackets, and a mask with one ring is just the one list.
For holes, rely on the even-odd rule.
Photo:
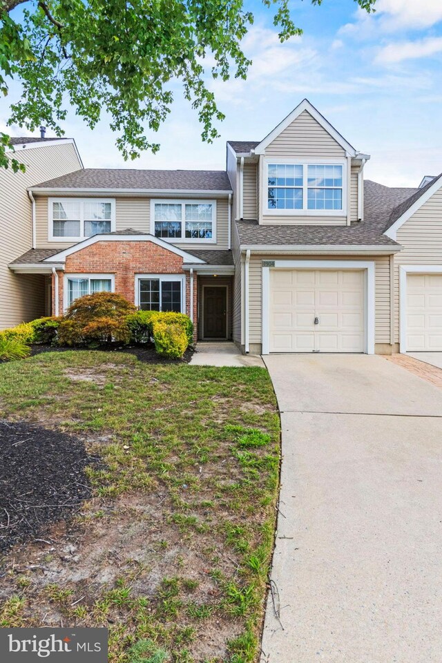
[(41, 536), (91, 494), (84, 473), (97, 459), (64, 433), (0, 420), (0, 552)]

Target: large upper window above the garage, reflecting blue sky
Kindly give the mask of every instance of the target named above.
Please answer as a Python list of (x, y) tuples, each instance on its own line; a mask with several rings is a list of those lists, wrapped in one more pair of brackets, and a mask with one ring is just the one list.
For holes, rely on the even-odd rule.
[(267, 209), (345, 213), (344, 166), (268, 164)]

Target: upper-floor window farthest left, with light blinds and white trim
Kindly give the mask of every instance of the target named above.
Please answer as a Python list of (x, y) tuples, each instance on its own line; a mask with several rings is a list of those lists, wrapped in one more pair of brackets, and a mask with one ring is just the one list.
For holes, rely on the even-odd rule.
[(115, 229), (115, 201), (50, 198), (49, 239), (82, 240)]

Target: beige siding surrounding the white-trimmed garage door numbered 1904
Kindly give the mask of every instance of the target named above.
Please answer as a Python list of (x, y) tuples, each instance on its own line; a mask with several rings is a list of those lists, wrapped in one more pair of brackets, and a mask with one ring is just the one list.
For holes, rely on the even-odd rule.
[[(249, 340), (261, 343), (262, 260), (374, 260), (376, 262), (375, 342), (390, 343), (390, 260), (388, 256), (258, 256), (249, 265)], [(320, 269), (320, 268), (317, 268)]]

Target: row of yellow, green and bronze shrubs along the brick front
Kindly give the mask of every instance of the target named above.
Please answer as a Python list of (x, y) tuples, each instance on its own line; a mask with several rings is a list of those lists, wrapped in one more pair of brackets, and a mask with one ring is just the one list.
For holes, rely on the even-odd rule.
[(137, 311), (122, 296), (96, 293), (75, 300), (66, 315), (39, 318), (0, 332), (0, 360), (30, 354), (32, 343), (99, 347), (154, 343), (157, 354), (179, 358), (193, 340), (193, 324), (181, 313)]

